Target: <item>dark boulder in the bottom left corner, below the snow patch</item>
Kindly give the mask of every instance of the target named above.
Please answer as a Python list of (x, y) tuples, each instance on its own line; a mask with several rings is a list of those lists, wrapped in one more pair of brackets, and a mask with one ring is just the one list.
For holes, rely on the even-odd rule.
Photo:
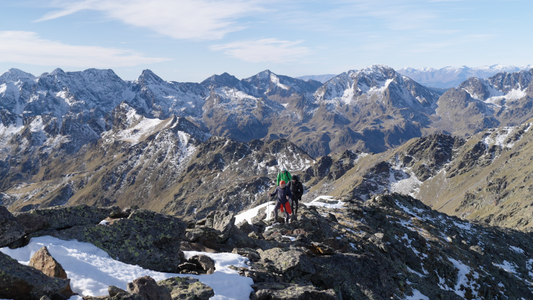
[(50, 277), (0, 252), (0, 299), (69, 298), (70, 280)]

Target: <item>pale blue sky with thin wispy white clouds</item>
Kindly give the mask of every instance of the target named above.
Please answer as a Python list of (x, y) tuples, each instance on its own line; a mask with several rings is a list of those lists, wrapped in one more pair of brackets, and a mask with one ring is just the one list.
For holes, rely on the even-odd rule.
[(0, 0), (0, 73), (136, 79), (533, 64), (531, 0)]

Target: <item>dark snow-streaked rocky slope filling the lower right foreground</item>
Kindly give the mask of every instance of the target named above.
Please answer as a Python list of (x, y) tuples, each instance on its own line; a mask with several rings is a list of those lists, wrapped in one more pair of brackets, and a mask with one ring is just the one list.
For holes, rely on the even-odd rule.
[(297, 221), (259, 233), (259, 257), (240, 269), (258, 299), (298, 299), (302, 287), (324, 299), (533, 296), (530, 234), (468, 223), (408, 196), (302, 207)]

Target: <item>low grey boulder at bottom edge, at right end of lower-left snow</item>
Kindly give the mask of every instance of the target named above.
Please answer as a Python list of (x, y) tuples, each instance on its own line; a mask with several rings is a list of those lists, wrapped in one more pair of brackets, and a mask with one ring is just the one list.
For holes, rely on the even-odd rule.
[(191, 277), (173, 277), (157, 284), (166, 287), (172, 299), (208, 300), (215, 296), (212, 288)]

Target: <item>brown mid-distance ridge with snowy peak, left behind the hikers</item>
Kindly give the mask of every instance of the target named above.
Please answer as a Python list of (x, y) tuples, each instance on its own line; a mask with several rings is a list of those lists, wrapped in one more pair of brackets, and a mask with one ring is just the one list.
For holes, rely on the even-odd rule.
[(283, 139), (240, 143), (185, 118), (146, 118), (124, 102), (101, 126), (110, 129), (77, 152), (71, 137), (49, 135), (48, 125), (39, 129), (38, 143), (36, 132), (23, 131), (17, 139), (26, 148), (15, 144), (4, 154), (0, 203), (13, 211), (138, 205), (194, 219), (262, 203), (279, 170), (301, 172), (314, 162)]

